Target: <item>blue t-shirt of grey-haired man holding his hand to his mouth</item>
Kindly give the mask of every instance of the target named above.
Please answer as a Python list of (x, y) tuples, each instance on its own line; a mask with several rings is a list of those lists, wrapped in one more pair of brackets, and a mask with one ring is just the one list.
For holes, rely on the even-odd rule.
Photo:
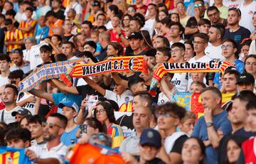
[[(228, 120), (228, 112), (222, 111), (220, 114), (213, 116), (213, 127), (215, 131), (221, 129), (223, 131), (223, 135), (232, 131), (232, 127), (230, 121)], [(201, 141), (207, 141), (208, 132), (206, 128), (206, 120), (204, 116), (201, 116), (196, 122), (196, 126), (193, 129), (192, 135), (193, 137), (198, 137)], [(218, 160), (218, 149), (213, 148), (213, 146), (208, 146), (206, 148), (206, 160), (208, 164), (215, 164)]]

